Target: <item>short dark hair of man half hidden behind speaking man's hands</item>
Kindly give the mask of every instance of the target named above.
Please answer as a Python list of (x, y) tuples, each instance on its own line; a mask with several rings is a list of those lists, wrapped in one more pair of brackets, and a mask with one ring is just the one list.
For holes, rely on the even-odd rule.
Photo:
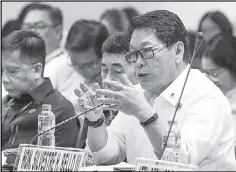
[(117, 32), (109, 36), (102, 45), (102, 51), (107, 53), (122, 53), (129, 51), (130, 36), (126, 32)]

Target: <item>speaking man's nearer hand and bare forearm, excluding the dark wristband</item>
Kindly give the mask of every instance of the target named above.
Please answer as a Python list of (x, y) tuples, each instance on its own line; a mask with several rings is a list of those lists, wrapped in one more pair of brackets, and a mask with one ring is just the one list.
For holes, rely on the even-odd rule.
[[(97, 89), (97, 94), (107, 96), (98, 100), (104, 104), (113, 104), (113, 106), (107, 108), (108, 110), (118, 110), (126, 115), (132, 115), (139, 122), (144, 122), (151, 118), (155, 111), (146, 101), (143, 90), (133, 86), (126, 76), (121, 77), (123, 83), (103, 81), (108, 88), (113, 88), (113, 90)], [(160, 155), (162, 150), (162, 134), (160, 131), (162, 130), (160, 130), (159, 120), (155, 120), (143, 128), (153, 146), (154, 152)]]

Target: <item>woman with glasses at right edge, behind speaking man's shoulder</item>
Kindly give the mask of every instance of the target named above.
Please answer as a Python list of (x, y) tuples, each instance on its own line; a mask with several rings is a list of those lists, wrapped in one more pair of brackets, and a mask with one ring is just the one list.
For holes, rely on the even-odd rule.
[(218, 34), (207, 46), (202, 57), (203, 71), (229, 99), (236, 132), (236, 38)]

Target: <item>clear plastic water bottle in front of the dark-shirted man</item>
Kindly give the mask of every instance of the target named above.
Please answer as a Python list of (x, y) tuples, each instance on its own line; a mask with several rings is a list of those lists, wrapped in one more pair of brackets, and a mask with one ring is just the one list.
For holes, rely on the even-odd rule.
[[(42, 112), (38, 116), (38, 133), (55, 126), (55, 115), (50, 104), (42, 105)], [(55, 146), (55, 129), (38, 136), (38, 146)]]

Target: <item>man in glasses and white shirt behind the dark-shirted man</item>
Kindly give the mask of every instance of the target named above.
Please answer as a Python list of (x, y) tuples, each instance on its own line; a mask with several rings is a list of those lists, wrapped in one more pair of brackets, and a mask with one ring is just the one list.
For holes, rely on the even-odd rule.
[[(27, 5), (20, 13), (19, 19), (22, 30), (32, 30), (43, 38), (46, 45), (46, 59), (44, 77), (49, 77), (53, 88), (61, 87), (61, 73), (58, 69), (66, 63), (67, 55), (60, 42), (63, 33), (63, 16), (60, 9), (43, 3), (31, 3)], [(70, 89), (70, 85), (67, 85)]]

